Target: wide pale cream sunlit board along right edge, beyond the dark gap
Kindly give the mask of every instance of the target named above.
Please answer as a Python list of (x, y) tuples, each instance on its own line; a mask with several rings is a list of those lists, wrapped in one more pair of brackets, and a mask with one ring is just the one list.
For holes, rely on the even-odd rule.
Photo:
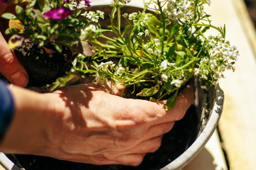
[(256, 63), (255, 28), (244, 1), (213, 0), (209, 8), (213, 23), (226, 24), (226, 38), (240, 50), (236, 71), (220, 82), (225, 93), (219, 129), (230, 169), (256, 167)]

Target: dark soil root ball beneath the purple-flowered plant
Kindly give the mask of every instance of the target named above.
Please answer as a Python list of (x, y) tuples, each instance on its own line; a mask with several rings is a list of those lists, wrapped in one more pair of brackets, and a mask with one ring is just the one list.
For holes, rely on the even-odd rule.
[(28, 86), (51, 84), (72, 67), (75, 57), (68, 47), (63, 47), (62, 53), (54, 50), (53, 45), (44, 47), (53, 52), (48, 54), (43, 47), (33, 45), (31, 42), (14, 49), (16, 57), (28, 72)]

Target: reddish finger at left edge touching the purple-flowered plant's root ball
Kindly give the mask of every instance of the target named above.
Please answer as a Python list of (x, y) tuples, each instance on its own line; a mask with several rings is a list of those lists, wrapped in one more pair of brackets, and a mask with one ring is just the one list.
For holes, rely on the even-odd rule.
[(17, 86), (26, 86), (28, 84), (28, 74), (18, 62), (13, 50), (11, 50), (0, 33), (0, 72), (9, 79), (12, 84)]

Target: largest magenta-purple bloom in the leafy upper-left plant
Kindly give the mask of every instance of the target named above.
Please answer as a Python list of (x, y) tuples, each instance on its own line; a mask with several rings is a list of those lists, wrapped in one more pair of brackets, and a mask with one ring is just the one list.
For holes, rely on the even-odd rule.
[(54, 20), (59, 20), (63, 18), (67, 18), (68, 16), (71, 16), (72, 12), (70, 11), (69, 8), (56, 8), (53, 9), (51, 8), (50, 11), (47, 11), (46, 13), (43, 14), (44, 17), (54, 19)]

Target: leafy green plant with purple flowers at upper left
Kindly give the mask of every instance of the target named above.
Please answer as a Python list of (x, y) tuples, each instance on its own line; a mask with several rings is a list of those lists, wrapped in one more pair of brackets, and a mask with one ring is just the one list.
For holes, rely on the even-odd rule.
[(11, 24), (13, 27), (7, 29), (6, 34), (18, 34), (23, 37), (21, 40), (29, 40), (40, 47), (54, 45), (58, 52), (63, 45), (73, 47), (80, 42), (80, 28), (90, 22), (79, 19), (83, 8), (90, 6), (89, 0), (1, 1), (1, 4), (8, 3), (16, 4), (16, 15), (4, 13), (2, 17), (16, 24)]

